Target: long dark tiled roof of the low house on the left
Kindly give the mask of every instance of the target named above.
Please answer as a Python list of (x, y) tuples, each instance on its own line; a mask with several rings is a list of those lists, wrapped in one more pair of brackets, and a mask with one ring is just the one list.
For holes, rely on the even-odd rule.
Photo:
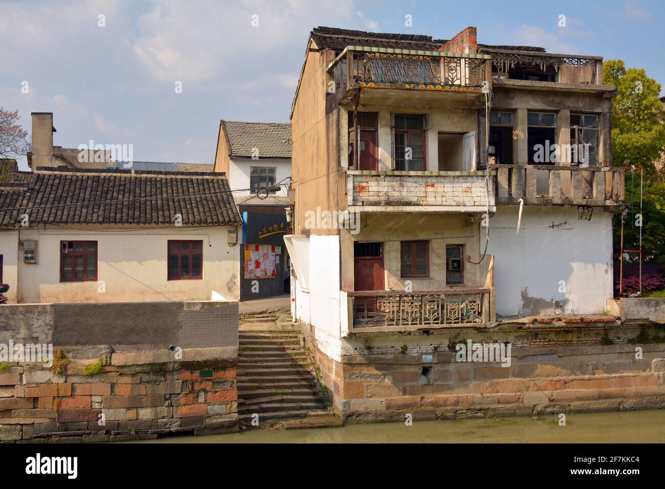
[[(164, 174), (140, 170), (38, 168), (0, 184), (0, 225), (30, 224), (241, 224), (229, 183), (221, 173)], [(30, 175), (29, 179), (27, 174)]]

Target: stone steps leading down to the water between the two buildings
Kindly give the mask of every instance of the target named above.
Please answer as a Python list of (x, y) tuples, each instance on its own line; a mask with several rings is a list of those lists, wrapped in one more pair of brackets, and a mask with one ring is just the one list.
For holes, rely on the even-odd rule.
[(251, 427), (255, 413), (260, 426), (266, 420), (330, 416), (317, 369), (288, 309), (241, 316), (236, 377), (241, 426)]

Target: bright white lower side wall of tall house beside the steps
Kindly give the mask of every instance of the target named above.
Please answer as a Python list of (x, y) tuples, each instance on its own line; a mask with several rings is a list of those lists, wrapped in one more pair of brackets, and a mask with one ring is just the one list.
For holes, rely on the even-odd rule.
[[(309, 283), (296, 283), (296, 316), (314, 327), (319, 349), (341, 361), (339, 236), (310, 236)], [(346, 308), (346, 303), (344, 303)]]

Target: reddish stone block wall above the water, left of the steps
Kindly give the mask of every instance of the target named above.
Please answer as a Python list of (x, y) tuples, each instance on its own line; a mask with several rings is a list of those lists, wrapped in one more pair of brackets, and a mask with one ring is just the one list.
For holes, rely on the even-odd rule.
[[(100, 353), (98, 359), (78, 358), (91, 350), (63, 352), (62, 371), (59, 363), (0, 365), (0, 442), (237, 430), (237, 347), (184, 350), (184, 361), (168, 350)], [(85, 365), (96, 362), (100, 371), (86, 375)]]

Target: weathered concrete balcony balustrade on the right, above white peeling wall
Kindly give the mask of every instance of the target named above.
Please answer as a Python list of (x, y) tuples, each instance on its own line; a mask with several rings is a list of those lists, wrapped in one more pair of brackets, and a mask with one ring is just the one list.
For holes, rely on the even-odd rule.
[(491, 165), (497, 204), (620, 206), (624, 169), (608, 166)]

